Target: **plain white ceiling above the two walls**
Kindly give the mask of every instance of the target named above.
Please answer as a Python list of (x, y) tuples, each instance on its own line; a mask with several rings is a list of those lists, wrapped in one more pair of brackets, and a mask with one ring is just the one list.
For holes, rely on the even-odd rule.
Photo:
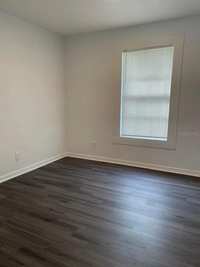
[(0, 10), (61, 35), (200, 15), (200, 0), (0, 0)]

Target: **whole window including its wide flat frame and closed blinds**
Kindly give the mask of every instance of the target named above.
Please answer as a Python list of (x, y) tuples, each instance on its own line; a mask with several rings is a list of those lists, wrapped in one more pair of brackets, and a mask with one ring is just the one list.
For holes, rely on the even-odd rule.
[(116, 46), (113, 143), (176, 148), (183, 42), (180, 34)]

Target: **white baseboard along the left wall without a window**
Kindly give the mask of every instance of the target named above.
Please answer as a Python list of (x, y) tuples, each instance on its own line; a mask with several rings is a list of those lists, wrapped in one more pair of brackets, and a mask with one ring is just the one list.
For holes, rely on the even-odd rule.
[(58, 156), (51, 157), (51, 158), (48, 158), (48, 159), (43, 160), (43, 161), (41, 161), (41, 162), (35, 163), (35, 164), (33, 164), (33, 165), (30, 165), (30, 166), (28, 166), (28, 167), (22, 168), (22, 169), (20, 169), (20, 170), (15, 171), (15, 172), (11, 172), (11, 173), (8, 173), (8, 174), (6, 174), (6, 175), (3, 175), (3, 176), (0, 177), (0, 183), (1, 183), (1, 182), (5, 182), (5, 181), (7, 181), (7, 180), (9, 180), (9, 179), (12, 179), (12, 178), (14, 178), (14, 177), (17, 177), (17, 176), (19, 176), (19, 175), (21, 175), (21, 174), (24, 174), (24, 173), (26, 173), (26, 172), (30, 172), (30, 171), (32, 171), (32, 170), (35, 170), (35, 169), (37, 169), (37, 168), (40, 168), (40, 167), (42, 167), (42, 166), (44, 166), (44, 165), (47, 165), (47, 164), (49, 164), (49, 163), (51, 163), (51, 162), (54, 162), (54, 161), (56, 161), (56, 160), (58, 160), (58, 159), (61, 159), (61, 158), (63, 158), (63, 157), (67, 157), (67, 156), (68, 156), (67, 153), (63, 153), (63, 154), (60, 154), (60, 155), (58, 155)]

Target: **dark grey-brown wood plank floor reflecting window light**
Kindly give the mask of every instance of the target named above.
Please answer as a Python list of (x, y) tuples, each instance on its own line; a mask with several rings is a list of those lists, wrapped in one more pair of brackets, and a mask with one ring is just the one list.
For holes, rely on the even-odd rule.
[(0, 184), (0, 266), (200, 266), (200, 180), (66, 157)]

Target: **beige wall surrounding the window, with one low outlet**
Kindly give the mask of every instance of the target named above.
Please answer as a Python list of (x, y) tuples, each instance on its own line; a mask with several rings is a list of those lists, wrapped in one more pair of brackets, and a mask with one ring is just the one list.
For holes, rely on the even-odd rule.
[[(152, 23), (65, 39), (67, 151), (199, 171), (200, 17)], [(185, 33), (176, 150), (113, 144), (114, 45)], [(96, 141), (96, 149), (92, 148)]]

